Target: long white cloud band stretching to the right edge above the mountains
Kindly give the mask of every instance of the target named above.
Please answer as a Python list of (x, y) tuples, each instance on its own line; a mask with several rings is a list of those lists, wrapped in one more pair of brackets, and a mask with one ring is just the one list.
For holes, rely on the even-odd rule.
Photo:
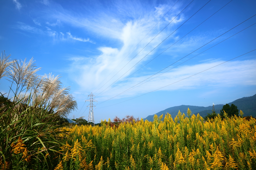
[[(139, 94), (148, 93), (150, 91), (156, 90), (158, 88), (164, 87), (159, 90), (180, 90), (180, 89), (196, 89), (205, 86), (212, 86), (214, 87), (234, 87), (234, 86), (249, 86), (249, 85), (256, 85), (255, 77), (255, 64), (256, 60), (244, 60), (244, 61), (229, 61), (225, 64), (207, 70), (205, 72), (199, 73), (211, 67), (214, 67), (223, 61), (214, 61), (214, 62), (204, 62), (200, 64), (194, 65), (187, 65), (182, 66), (179, 68), (175, 68), (170, 72), (162, 74), (155, 79), (151, 80), (155, 76), (151, 77), (148, 80), (151, 80), (137, 88), (134, 88), (126, 93), (116, 97), (123, 98), (123, 97), (132, 97)], [(189, 77), (199, 73), (195, 76)], [(130, 87), (140, 83), (141, 81), (147, 79), (151, 75), (140, 76), (140, 77), (133, 77), (129, 78), (127, 81), (120, 83), (117, 87), (113, 90), (105, 93), (101, 96), (101, 100), (107, 99), (110, 96), (115, 96), (123, 91), (129, 89)], [(189, 77), (188, 79), (185, 79)], [(185, 79), (185, 80), (182, 80)], [(147, 81), (148, 81), (147, 80)], [(182, 81), (180, 81), (182, 80)], [(180, 82), (177, 82), (180, 81)], [(146, 82), (146, 81), (145, 81)], [(177, 83), (175, 83), (177, 82)], [(144, 83), (144, 82), (143, 82)]]

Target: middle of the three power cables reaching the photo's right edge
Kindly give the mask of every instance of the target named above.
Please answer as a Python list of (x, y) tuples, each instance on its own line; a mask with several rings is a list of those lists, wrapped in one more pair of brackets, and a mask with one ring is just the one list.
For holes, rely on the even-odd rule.
[[(256, 23), (254, 23), (254, 24), (256, 24)], [(252, 24), (252, 25), (254, 25), (254, 24)], [(251, 27), (252, 25), (250, 25), (249, 27)], [(247, 28), (249, 28), (249, 27), (247, 27)], [(245, 29), (247, 29), (247, 28), (245, 28)], [(243, 30), (245, 30), (245, 29), (243, 29)], [(238, 33), (242, 32), (243, 30), (241, 30), (241, 31), (237, 32), (236, 34), (238, 34)], [(234, 35), (236, 35), (236, 34), (234, 34)], [(232, 35), (232, 36), (234, 36), (234, 35)], [(230, 36), (230, 37), (226, 38), (225, 40), (227, 40), (227, 39), (231, 38), (232, 36)], [(223, 41), (225, 41), (225, 40), (223, 40)], [(218, 44), (222, 43), (223, 41), (219, 42)], [(216, 46), (216, 45), (218, 45), (218, 44), (215, 44), (214, 46)], [(212, 46), (212, 47), (214, 47), (214, 46)], [(210, 47), (210, 48), (212, 48), (212, 47)], [(208, 49), (206, 49), (206, 50), (202, 51), (201, 53), (199, 53), (199, 54), (195, 55), (194, 57), (196, 57), (196, 56), (198, 56), (198, 55), (200, 55), (200, 54), (204, 53), (205, 51), (209, 50), (210, 48), (208, 48)], [(194, 58), (194, 57), (191, 57), (190, 59), (192, 59), (192, 58)], [(188, 60), (190, 60), (190, 59), (188, 59)], [(136, 88), (136, 87), (138, 87), (138, 86), (141, 86), (141, 85), (143, 85), (143, 84), (145, 84), (145, 83), (147, 83), (147, 82), (149, 82), (149, 81), (151, 81), (151, 80), (155, 79), (156, 77), (158, 77), (158, 76), (160, 76), (160, 75), (162, 75), (162, 74), (164, 74), (164, 73), (166, 73), (166, 72), (168, 72), (168, 71), (170, 71), (170, 70), (172, 70), (172, 69), (174, 69), (174, 68), (178, 67), (179, 65), (181, 65), (181, 64), (183, 64), (183, 63), (185, 63), (185, 62), (187, 62), (188, 60), (186, 60), (186, 61), (184, 61), (184, 62), (182, 62), (182, 63), (178, 64), (177, 66), (175, 66), (175, 67), (173, 67), (173, 68), (171, 68), (171, 69), (169, 69), (169, 70), (167, 70), (167, 71), (165, 71), (165, 72), (163, 72), (163, 73), (161, 73), (161, 74), (159, 74), (159, 75), (155, 76), (154, 78), (152, 78), (152, 79), (150, 79), (150, 80), (148, 80), (148, 81), (144, 82), (145, 80), (149, 79), (150, 77), (152, 77), (152, 76), (156, 75), (157, 73), (159, 73), (159, 72), (163, 71), (163, 70), (164, 70), (164, 69), (163, 69), (163, 70), (161, 70), (161, 71), (159, 71), (159, 72), (155, 73), (154, 75), (152, 75), (152, 76), (148, 77), (147, 79), (143, 80), (142, 82), (144, 82), (144, 83), (140, 82), (140, 83), (142, 83), (142, 84), (138, 83), (138, 84), (140, 84), (140, 85), (136, 84), (136, 85), (132, 86), (131, 88), (132, 88), (132, 89), (134, 89), (134, 88)], [(168, 67), (169, 67), (169, 66), (168, 66)], [(166, 69), (166, 68), (165, 68), (165, 69)], [(138, 85), (138, 86), (137, 86), (137, 85)], [(136, 86), (136, 87), (135, 87), (135, 86)], [(134, 88), (133, 88), (133, 87), (134, 87)], [(118, 95), (116, 95), (116, 96), (114, 96), (114, 97), (117, 97), (117, 96), (119, 96), (119, 95), (121, 95), (121, 94), (124, 94), (124, 93), (126, 93), (126, 92), (128, 92), (128, 91), (132, 90), (131, 88), (129, 88), (129, 89), (127, 89), (127, 90), (123, 91), (122, 93), (120, 93), (120, 94), (118, 94)], [(112, 98), (114, 98), (114, 97), (112, 97)], [(112, 99), (112, 98), (110, 98), (110, 99)], [(108, 99), (108, 100), (110, 100), (110, 99)], [(105, 101), (108, 101), (108, 100), (105, 100)], [(101, 103), (104, 103), (105, 101), (103, 101), (103, 102), (101, 102)], [(101, 104), (101, 103), (99, 103), (99, 104)]]

